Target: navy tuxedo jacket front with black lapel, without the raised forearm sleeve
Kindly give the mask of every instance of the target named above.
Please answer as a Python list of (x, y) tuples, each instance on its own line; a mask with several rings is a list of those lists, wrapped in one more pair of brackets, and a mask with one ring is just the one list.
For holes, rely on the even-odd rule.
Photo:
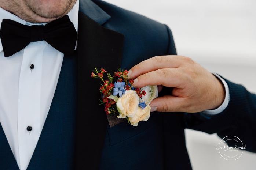
[(109, 128), (98, 106), (99, 82), (89, 76), (94, 67), (113, 73), (153, 56), (176, 54), (171, 31), (114, 5), (94, 3), (80, 1), (75, 168), (191, 169), (181, 114), (156, 112), (137, 127), (124, 122)]

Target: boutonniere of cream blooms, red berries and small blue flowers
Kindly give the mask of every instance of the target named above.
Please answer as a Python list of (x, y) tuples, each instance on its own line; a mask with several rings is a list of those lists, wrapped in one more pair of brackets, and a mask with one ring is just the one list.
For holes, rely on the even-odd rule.
[[(135, 88), (134, 80), (128, 77), (128, 71), (118, 69), (111, 76), (107, 73), (107, 80), (103, 79), (106, 71), (96, 68), (92, 72), (92, 78), (100, 78), (101, 104), (105, 106), (105, 112), (109, 116), (126, 119), (133, 126), (138, 126), (140, 121), (147, 121), (150, 117), (150, 102), (158, 96), (157, 86)], [(116, 79), (115, 82), (114, 78)]]

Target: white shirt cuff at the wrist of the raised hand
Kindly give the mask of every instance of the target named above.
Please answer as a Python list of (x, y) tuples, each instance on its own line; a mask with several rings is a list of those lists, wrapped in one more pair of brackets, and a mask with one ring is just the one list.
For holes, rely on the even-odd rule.
[(225, 95), (225, 99), (224, 99), (224, 102), (222, 103), (222, 105), (220, 105), (220, 107), (218, 107), (217, 109), (214, 109), (214, 110), (205, 110), (201, 113), (205, 114), (206, 116), (213, 116), (213, 115), (216, 115), (216, 114), (219, 114), (221, 112), (223, 112), (223, 110), (226, 109), (228, 103), (229, 103), (229, 88), (228, 88), (228, 85), (227, 83), (225, 82), (224, 79), (222, 79), (219, 75), (217, 75), (216, 73), (212, 73), (213, 75), (215, 75), (217, 78), (219, 78), (223, 85), (224, 85), (224, 88), (225, 88), (225, 91), (226, 91), (226, 95)]

